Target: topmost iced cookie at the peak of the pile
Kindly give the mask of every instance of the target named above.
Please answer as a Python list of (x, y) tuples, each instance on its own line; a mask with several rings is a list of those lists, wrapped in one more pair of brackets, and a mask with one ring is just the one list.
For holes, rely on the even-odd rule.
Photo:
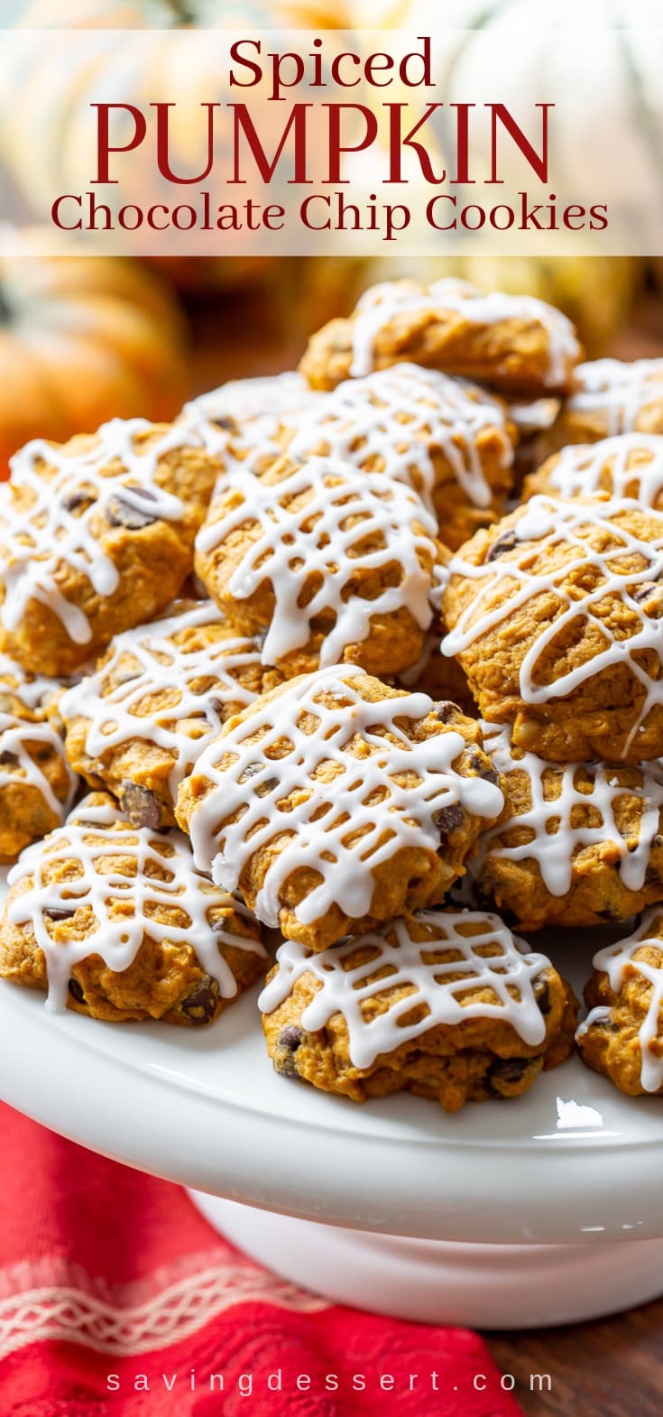
[(465, 281), (387, 281), (348, 319), (313, 334), (300, 370), (334, 388), (404, 360), (521, 394), (568, 391), (582, 349), (574, 326), (530, 295), (490, 295)]

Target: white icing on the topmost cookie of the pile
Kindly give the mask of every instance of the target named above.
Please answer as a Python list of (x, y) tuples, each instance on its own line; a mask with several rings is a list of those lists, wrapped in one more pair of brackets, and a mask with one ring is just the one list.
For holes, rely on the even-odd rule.
[(502, 320), (524, 320), (538, 324), (548, 337), (548, 367), (544, 384), (555, 388), (568, 377), (568, 364), (575, 364), (579, 344), (571, 320), (561, 310), (537, 300), (531, 295), (507, 295), (493, 290), (484, 295), (466, 281), (446, 278), (421, 290), (408, 283), (385, 281), (374, 285), (357, 302), (353, 317), (351, 377), (370, 374), (377, 334), (401, 315), (445, 319), (448, 312), (462, 315), (470, 324), (499, 324)]

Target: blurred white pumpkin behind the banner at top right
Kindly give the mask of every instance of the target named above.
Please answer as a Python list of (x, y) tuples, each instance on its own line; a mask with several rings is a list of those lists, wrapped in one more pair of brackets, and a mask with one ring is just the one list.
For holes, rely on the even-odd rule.
[[(436, 35), (446, 105), (510, 96), (518, 118), (555, 101), (550, 191), (582, 201), (591, 186), (592, 200), (605, 194), (613, 214), (630, 214), (626, 231), (638, 238), (636, 204), (646, 203), (653, 232), (663, 215), (660, 16), (660, 0), (409, 0), (401, 23)], [(509, 164), (509, 143), (503, 156)], [(527, 169), (514, 147), (513, 174), (523, 186)]]

